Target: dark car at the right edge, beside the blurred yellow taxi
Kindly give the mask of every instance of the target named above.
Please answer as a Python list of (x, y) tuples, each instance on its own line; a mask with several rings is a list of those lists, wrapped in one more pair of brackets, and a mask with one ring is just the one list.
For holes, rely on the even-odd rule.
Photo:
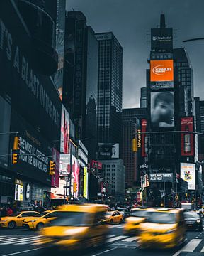
[(184, 218), (188, 229), (203, 231), (203, 221), (199, 213), (195, 211), (185, 212)]

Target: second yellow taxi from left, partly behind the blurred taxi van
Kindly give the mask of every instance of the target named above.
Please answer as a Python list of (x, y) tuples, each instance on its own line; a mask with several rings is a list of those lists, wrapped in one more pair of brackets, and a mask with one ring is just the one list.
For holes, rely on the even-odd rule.
[(29, 218), (28, 220), (23, 221), (23, 227), (28, 228), (30, 230), (42, 230), (45, 225), (50, 223), (52, 220), (57, 218), (58, 212), (60, 210), (49, 210), (39, 215), (36, 215), (33, 218)]

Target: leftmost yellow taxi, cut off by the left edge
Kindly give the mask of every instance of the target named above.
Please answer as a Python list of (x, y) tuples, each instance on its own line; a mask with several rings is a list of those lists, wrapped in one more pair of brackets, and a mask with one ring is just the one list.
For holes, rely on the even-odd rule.
[(22, 227), (23, 220), (26, 220), (27, 218), (33, 217), (35, 215), (39, 215), (40, 213), (36, 211), (22, 211), (22, 212), (16, 212), (12, 213), (9, 216), (1, 217), (0, 218), (0, 227), (1, 228), (9, 228), (13, 229), (16, 227)]

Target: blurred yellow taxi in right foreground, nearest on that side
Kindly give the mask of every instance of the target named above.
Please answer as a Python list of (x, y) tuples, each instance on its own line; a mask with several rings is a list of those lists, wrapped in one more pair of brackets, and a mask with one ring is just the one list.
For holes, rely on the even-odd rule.
[(186, 240), (183, 209), (149, 209), (147, 220), (140, 224), (142, 247), (172, 248)]

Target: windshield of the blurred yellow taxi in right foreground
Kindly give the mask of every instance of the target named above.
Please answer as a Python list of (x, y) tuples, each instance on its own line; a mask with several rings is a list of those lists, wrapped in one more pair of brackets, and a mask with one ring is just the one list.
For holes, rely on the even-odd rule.
[(148, 213), (148, 223), (173, 224), (176, 223), (175, 213)]

